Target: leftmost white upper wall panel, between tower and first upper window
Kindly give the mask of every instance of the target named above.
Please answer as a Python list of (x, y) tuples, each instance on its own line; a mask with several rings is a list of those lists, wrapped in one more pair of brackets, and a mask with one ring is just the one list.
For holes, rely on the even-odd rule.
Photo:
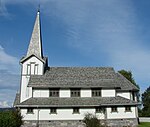
[(34, 89), (33, 97), (49, 97), (48, 89)]

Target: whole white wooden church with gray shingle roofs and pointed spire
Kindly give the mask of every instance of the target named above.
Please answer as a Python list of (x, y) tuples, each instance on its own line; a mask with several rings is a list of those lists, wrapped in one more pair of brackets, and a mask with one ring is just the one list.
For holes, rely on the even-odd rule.
[(109, 126), (138, 124), (139, 89), (112, 67), (48, 66), (42, 50), (39, 11), (27, 54), (20, 63), (20, 92), (14, 107), (20, 109), (24, 121), (44, 121), (58, 127), (76, 123), (78, 127), (85, 114), (92, 113)]

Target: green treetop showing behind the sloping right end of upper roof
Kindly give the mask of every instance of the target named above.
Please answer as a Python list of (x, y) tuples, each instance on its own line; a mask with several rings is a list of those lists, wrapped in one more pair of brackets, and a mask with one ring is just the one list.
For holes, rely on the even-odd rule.
[(140, 88), (139, 85), (136, 84), (131, 71), (120, 70), (118, 72), (120, 74), (122, 74), (126, 79), (128, 79), (132, 84), (134, 84), (135, 86), (137, 86), (138, 88)]

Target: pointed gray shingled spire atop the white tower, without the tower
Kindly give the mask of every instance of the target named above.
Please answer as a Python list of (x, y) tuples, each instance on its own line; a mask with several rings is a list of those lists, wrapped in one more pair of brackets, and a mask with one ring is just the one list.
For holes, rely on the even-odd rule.
[(41, 37), (41, 26), (40, 26), (40, 10), (37, 12), (34, 28), (32, 31), (27, 57), (30, 55), (35, 55), (39, 58), (43, 58), (42, 50), (42, 37)]

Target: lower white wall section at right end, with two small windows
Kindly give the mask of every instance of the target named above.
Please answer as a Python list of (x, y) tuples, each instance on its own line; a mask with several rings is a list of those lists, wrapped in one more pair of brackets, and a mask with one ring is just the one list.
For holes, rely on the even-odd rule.
[(125, 118), (136, 118), (136, 109), (131, 107), (130, 112), (125, 111), (125, 107), (118, 107), (117, 112), (112, 112), (111, 108), (107, 108), (107, 119), (125, 119)]

